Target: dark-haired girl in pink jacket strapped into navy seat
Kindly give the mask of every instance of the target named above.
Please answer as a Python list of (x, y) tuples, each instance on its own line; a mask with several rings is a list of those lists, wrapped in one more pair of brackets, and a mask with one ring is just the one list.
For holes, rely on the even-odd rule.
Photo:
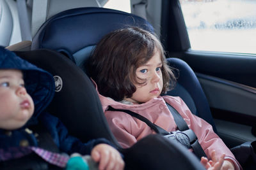
[(241, 167), (211, 125), (193, 115), (180, 97), (161, 96), (173, 87), (175, 76), (165, 62), (161, 43), (150, 32), (128, 27), (106, 35), (92, 54), (89, 74), (97, 84), (109, 127), (124, 148), (154, 131), (145, 122), (127, 113), (109, 111), (109, 106), (136, 112), (172, 132), (177, 130), (177, 125), (166, 106), (168, 103), (195, 132), (204, 152), (211, 159), (201, 159), (207, 169)]

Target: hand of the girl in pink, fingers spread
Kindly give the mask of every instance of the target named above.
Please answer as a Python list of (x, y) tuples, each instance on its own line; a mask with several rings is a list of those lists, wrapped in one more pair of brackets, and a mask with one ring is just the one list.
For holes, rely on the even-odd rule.
[(223, 169), (223, 162), (225, 154), (221, 155), (220, 159), (216, 157), (215, 150), (211, 154), (212, 160), (208, 160), (205, 157), (201, 158), (201, 163), (204, 165), (205, 169), (207, 170), (224, 170)]

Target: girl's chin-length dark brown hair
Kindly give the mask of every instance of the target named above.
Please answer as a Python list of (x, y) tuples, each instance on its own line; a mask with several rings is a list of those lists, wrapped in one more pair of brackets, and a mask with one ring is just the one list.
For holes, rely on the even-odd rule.
[(163, 46), (154, 34), (138, 27), (110, 32), (100, 40), (90, 57), (89, 74), (102, 96), (122, 101), (136, 91), (139, 83), (136, 69), (150, 60), (155, 52), (161, 55), (164, 94), (176, 78), (166, 64)]

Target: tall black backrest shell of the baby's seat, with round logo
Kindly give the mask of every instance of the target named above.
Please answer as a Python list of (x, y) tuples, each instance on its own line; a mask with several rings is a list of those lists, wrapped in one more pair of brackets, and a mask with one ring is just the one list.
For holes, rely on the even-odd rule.
[(119, 146), (108, 127), (92, 81), (79, 67), (53, 50), (15, 53), (54, 76), (56, 93), (47, 111), (60, 118), (70, 134), (84, 142), (106, 138)]

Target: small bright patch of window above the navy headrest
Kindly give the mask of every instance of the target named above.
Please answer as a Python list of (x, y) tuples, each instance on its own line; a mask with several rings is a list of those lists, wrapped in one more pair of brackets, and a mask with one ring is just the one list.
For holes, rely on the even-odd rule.
[(131, 13), (131, 3), (130, 0), (109, 0), (104, 8), (111, 8), (114, 10), (125, 11)]

